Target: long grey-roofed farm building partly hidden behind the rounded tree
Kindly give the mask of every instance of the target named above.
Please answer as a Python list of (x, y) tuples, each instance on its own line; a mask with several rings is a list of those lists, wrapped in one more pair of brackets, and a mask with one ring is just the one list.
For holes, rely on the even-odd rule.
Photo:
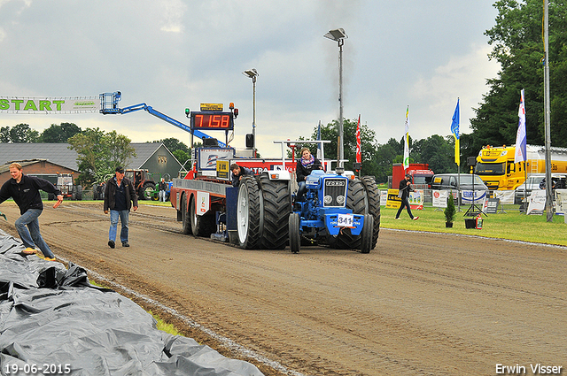
[[(131, 142), (136, 157), (130, 160), (127, 169), (147, 169), (166, 180), (176, 178), (182, 168), (177, 158), (160, 142)], [(12, 162), (26, 163), (24, 173), (39, 176), (51, 182), (57, 181), (57, 173), (79, 175), (77, 152), (69, 149), (68, 143), (0, 143), (0, 184), (11, 178), (8, 166)]]

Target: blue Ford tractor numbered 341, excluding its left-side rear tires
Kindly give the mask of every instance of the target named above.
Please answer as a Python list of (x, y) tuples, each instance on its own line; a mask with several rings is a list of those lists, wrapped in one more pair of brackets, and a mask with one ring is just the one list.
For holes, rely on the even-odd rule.
[(380, 200), (373, 178), (349, 179), (313, 171), (306, 180), (305, 201), (296, 202), (288, 221), (289, 243), (298, 253), (302, 242), (327, 243), (331, 248), (369, 253), (377, 243)]

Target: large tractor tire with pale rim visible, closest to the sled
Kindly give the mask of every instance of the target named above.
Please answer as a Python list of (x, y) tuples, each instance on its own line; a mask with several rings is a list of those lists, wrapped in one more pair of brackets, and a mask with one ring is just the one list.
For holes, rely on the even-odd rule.
[(238, 188), (238, 244), (244, 249), (260, 246), (260, 187), (253, 176), (243, 176)]

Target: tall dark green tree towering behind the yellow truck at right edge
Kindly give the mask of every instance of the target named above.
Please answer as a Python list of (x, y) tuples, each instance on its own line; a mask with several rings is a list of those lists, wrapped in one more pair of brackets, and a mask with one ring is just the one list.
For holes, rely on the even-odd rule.
[[(567, 4), (549, 1), (549, 66), (551, 92), (551, 136), (554, 146), (567, 146)], [(540, 0), (500, 0), (494, 4), (499, 14), (487, 30), (493, 50), (489, 58), (501, 64), (498, 77), (487, 80), (490, 90), (470, 119), (473, 129), (470, 146), (477, 152), (483, 145), (510, 145), (516, 142), (520, 90), (525, 89), (526, 134), (528, 143), (543, 145), (544, 82), (543, 7)]]

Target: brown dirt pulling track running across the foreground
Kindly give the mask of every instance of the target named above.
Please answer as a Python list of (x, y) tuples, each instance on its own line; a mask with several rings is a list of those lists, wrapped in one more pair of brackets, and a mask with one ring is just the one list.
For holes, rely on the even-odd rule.
[[(524, 365), (527, 374), (530, 364), (567, 366), (565, 248), (383, 229), (369, 255), (318, 247), (293, 255), (195, 239), (181, 234), (174, 209), (142, 205), (130, 216), (131, 247), (109, 249), (102, 203), (48, 205), (40, 226), (58, 257), (295, 372), (494, 375), (496, 364)], [(8, 216), (0, 228), (17, 236), (17, 207), (0, 210)]]

